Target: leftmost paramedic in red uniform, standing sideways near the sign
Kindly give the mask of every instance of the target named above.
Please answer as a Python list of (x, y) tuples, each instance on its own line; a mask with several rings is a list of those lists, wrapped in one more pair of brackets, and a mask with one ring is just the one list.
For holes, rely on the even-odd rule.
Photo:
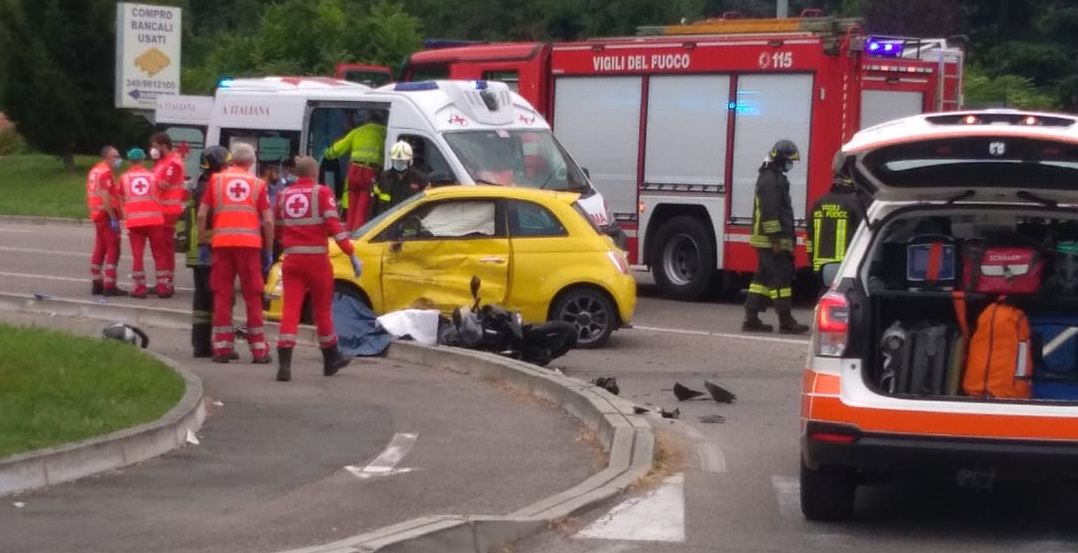
[(107, 146), (101, 149), (101, 161), (91, 167), (86, 177), (86, 207), (95, 227), (94, 253), (89, 260), (91, 292), (94, 295), (127, 295), (116, 287), (121, 195), (112, 171), (119, 169), (122, 163), (120, 152)]

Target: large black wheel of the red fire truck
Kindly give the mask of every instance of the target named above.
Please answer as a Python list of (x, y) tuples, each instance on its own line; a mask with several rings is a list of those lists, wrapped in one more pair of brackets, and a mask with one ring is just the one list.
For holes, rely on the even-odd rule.
[(664, 296), (695, 302), (710, 289), (715, 245), (704, 223), (679, 216), (663, 223), (650, 248), (650, 265)]

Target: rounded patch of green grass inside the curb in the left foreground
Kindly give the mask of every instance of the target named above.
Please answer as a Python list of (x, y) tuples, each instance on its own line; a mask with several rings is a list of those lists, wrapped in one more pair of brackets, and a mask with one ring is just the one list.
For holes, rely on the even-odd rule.
[(0, 457), (161, 418), (183, 378), (129, 344), (0, 324)]

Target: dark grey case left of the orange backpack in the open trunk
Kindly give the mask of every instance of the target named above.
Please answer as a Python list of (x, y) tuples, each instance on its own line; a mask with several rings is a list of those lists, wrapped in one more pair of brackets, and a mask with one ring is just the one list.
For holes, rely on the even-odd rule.
[(962, 367), (962, 333), (953, 324), (914, 324), (902, 344), (894, 392), (908, 396), (954, 396)]

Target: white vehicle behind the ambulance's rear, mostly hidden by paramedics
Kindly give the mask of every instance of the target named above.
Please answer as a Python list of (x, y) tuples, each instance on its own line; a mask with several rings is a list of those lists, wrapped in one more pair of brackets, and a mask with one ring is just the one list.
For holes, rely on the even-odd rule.
[(184, 156), (183, 175), (188, 180), (198, 176), (198, 156), (212, 114), (212, 96), (157, 96), (154, 100), (154, 127), (168, 133), (174, 149)]

